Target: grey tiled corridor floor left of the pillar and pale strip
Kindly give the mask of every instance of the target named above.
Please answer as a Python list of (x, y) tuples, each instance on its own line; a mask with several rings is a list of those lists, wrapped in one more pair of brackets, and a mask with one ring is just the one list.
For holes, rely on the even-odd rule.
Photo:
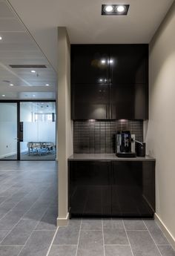
[(47, 255), (56, 217), (56, 162), (0, 162), (1, 256)]

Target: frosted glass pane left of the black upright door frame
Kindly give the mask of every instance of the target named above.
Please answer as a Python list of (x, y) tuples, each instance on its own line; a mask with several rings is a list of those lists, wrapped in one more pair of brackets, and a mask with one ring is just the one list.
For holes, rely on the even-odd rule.
[(0, 102), (0, 160), (17, 160), (17, 103)]

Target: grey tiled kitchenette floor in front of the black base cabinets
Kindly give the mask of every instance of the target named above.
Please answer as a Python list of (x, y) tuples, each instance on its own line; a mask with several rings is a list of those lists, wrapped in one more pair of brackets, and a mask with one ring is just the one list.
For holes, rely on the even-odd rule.
[(49, 256), (174, 256), (154, 220), (70, 220)]

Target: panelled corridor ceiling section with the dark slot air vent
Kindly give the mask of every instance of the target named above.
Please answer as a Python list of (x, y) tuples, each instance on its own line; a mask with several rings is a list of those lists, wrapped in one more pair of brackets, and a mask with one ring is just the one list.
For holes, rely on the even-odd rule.
[[(0, 99), (55, 99), (56, 72), (7, 1), (0, 1), (0, 36)], [(10, 65), (47, 68), (31, 73)]]

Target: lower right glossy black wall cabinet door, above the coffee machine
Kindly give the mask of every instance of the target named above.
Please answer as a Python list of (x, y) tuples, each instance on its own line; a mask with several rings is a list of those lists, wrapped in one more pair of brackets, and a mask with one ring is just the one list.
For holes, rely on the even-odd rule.
[(110, 119), (148, 119), (148, 85), (110, 85)]

